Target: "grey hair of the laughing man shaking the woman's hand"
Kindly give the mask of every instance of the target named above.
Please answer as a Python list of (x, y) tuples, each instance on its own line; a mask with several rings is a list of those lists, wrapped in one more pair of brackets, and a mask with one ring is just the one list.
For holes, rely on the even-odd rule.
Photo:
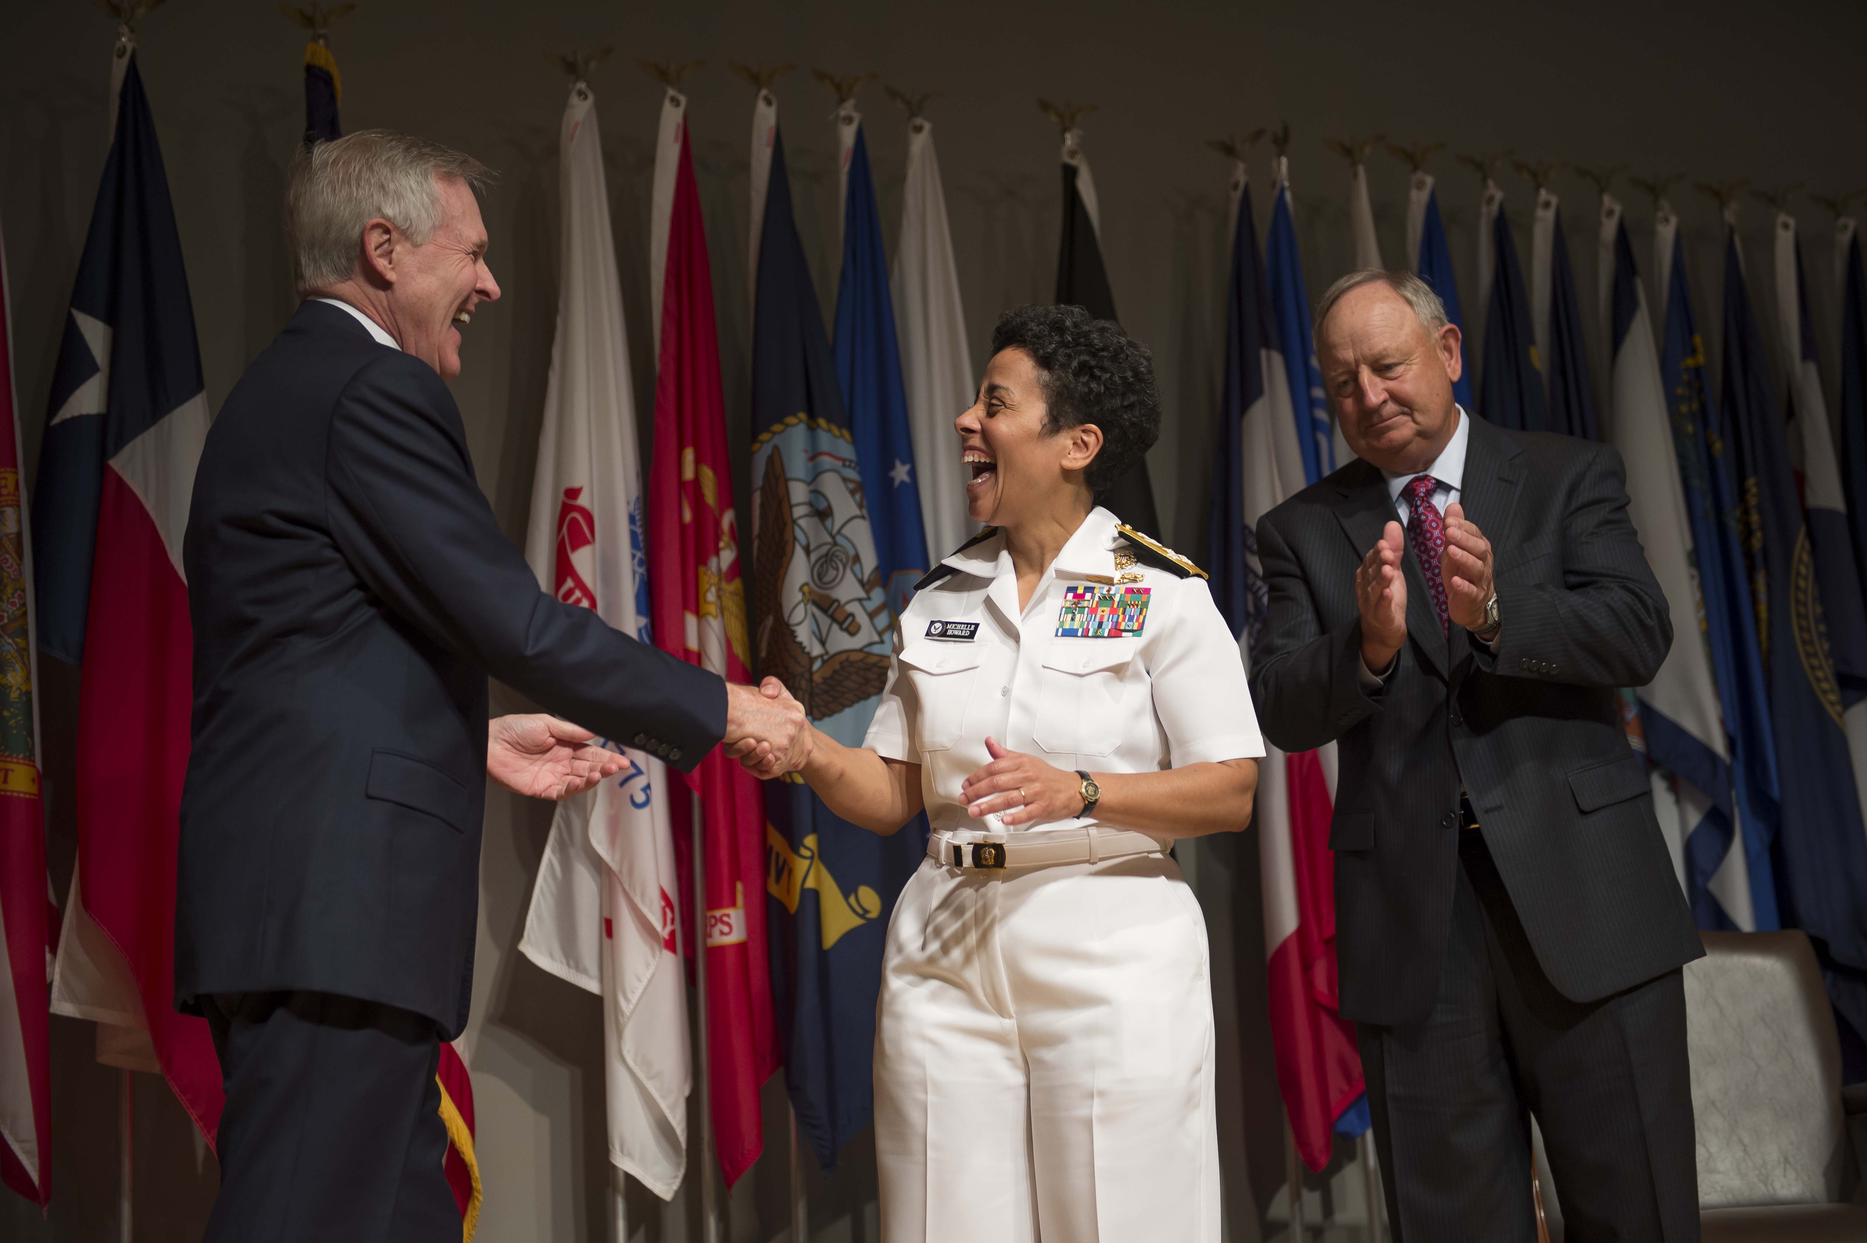
[(416, 246), (441, 228), (441, 179), (484, 189), (493, 172), (439, 142), (360, 129), (301, 149), (286, 187), (286, 243), (299, 297), (349, 280), (362, 226), (383, 216)]

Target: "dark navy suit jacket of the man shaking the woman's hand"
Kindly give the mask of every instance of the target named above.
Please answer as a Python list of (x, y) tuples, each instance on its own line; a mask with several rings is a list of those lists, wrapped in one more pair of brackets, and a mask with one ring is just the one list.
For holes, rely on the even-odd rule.
[(228, 394), (183, 552), (194, 739), (175, 1000), (316, 989), (467, 1021), (487, 674), (691, 769), (724, 683), (540, 592), (418, 358), (304, 302)]

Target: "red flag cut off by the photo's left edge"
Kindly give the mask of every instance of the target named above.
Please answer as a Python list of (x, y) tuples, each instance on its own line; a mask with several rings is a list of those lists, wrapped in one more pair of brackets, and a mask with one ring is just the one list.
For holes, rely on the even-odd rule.
[(52, 909), (39, 804), (39, 679), (32, 539), (19, 480), (13, 312), (0, 244), (0, 1180), (45, 1208), (52, 1196), (47, 980)]

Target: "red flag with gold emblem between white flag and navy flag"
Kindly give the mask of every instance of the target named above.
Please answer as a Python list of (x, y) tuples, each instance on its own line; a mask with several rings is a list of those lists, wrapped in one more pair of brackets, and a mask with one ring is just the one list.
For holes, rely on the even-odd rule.
[[(769, 91), (760, 91), (760, 99), (769, 101)], [(764, 194), (756, 168), (752, 192)], [(728, 681), (751, 681), (713, 272), (695, 189), (687, 101), (676, 90), (668, 90), (661, 106), (650, 235), (667, 239), (667, 252), (652, 263), (663, 272), (655, 461), (648, 476), (655, 644)], [(717, 748), (685, 786), (670, 782), (670, 795), (676, 823), (689, 823), (691, 795), (700, 799), (706, 817), (706, 1047), (713, 1148), (730, 1187), (764, 1150), (758, 1090), (779, 1068), (765, 957), (765, 797)], [(676, 840), (685, 844), (689, 834)], [(687, 855), (683, 849), (681, 892), (693, 885)]]

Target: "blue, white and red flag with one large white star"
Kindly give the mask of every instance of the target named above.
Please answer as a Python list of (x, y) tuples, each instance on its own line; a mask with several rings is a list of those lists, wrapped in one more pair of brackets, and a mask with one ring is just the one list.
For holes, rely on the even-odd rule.
[(174, 1008), (192, 704), (181, 534), (207, 422), (181, 239), (133, 52), (32, 498), (39, 649), (82, 668), (78, 870), (52, 1008), (105, 1023), (99, 1049), (116, 1064), (147, 1066), (153, 1047), (213, 1142), (220, 1066), (207, 1023)]

